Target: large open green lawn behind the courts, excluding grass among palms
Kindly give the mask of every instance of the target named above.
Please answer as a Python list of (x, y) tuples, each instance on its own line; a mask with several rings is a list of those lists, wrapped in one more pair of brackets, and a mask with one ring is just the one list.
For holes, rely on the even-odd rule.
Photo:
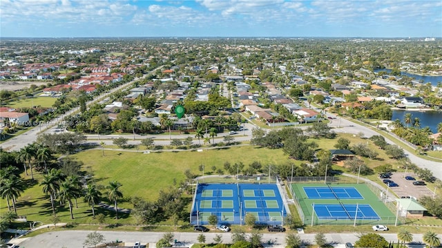
[(212, 166), (224, 170), (224, 162), (234, 164), (242, 162), (246, 166), (253, 161), (262, 164), (280, 164), (287, 161), (281, 150), (258, 149), (253, 146), (242, 146), (229, 149), (214, 149), (159, 153), (122, 153), (119, 151), (90, 150), (74, 158), (84, 162), (85, 171), (93, 171), (99, 184), (118, 180), (123, 184), (124, 195), (141, 196), (156, 200), (160, 189), (167, 189), (184, 180), (184, 171), (191, 169), (195, 174), (200, 164), (205, 165), (204, 172), (211, 173)]

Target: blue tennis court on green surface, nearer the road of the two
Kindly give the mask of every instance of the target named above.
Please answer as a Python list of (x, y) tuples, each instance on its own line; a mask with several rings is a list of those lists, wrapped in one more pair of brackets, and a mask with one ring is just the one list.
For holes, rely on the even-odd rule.
[(381, 219), (369, 204), (314, 204), (313, 207), (320, 220), (354, 220), (355, 217), (357, 220)]

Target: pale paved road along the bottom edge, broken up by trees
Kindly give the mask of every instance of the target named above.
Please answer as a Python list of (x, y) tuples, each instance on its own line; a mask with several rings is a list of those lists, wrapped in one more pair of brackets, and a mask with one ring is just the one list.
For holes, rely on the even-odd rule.
[[(46, 247), (66, 247), (78, 248), (83, 247), (83, 242), (86, 236), (91, 231), (51, 231), (43, 233), (32, 238), (25, 238), (20, 240), (13, 240), (19, 243), (20, 247), (32, 248), (46, 248)], [(125, 242), (126, 245), (133, 245), (134, 242), (140, 241), (142, 244), (155, 243), (160, 240), (164, 233), (160, 232), (130, 232), (130, 231), (99, 231), (105, 237), (106, 241), (119, 240)], [(204, 233), (206, 242), (213, 242), (216, 234), (222, 235), (222, 242), (231, 242), (231, 233)], [(396, 233), (380, 233), (388, 242), (397, 242)], [(187, 244), (198, 242), (200, 233), (175, 233), (174, 239)], [(298, 234), (301, 240), (305, 240), (314, 244), (314, 236), (316, 233)], [(345, 242), (356, 242), (358, 240), (358, 233), (326, 233), (325, 238), (328, 242), (345, 244)], [(271, 240), (274, 243), (273, 247), (285, 247), (285, 233), (264, 233), (262, 242)], [(414, 242), (422, 242), (422, 234), (413, 234)], [(340, 247), (343, 247), (340, 246)]]

